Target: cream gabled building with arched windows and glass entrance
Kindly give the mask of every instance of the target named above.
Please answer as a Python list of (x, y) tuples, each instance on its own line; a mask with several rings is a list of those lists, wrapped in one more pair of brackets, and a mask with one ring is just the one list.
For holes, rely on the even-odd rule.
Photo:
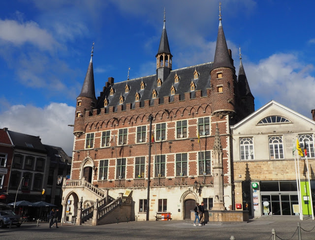
[[(310, 196), (315, 194), (315, 121), (270, 101), (244, 120), (231, 126), (235, 203), (253, 217), (296, 215), (298, 193), (296, 169), (300, 177), (304, 215), (312, 215)], [(307, 161), (292, 154), (298, 139), (307, 147), (312, 193), (309, 191)], [(297, 159), (297, 153), (295, 153)]]

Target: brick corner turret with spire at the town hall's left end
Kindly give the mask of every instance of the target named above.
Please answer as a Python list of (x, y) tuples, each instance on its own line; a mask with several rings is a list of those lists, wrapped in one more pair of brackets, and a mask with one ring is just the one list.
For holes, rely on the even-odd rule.
[(73, 130), (73, 134), (76, 136), (80, 136), (84, 133), (85, 117), (92, 114), (93, 109), (95, 109), (96, 107), (93, 61), (92, 61), (93, 49), (94, 49), (94, 46), (92, 46), (91, 60), (89, 63), (87, 74), (84, 79), (82, 90), (79, 96), (77, 97), (74, 130)]

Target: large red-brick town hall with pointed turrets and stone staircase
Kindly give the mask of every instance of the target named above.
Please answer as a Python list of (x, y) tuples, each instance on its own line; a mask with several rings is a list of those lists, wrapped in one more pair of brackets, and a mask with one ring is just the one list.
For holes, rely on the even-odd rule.
[(155, 57), (154, 75), (118, 83), (109, 77), (96, 98), (92, 48), (76, 99), (63, 217), (76, 215), (81, 202), (97, 224), (106, 213), (95, 214), (119, 193), (132, 197), (130, 217), (138, 220), (160, 212), (190, 219), (202, 201), (206, 209), (233, 209), (229, 126), (254, 111), (254, 97), (242, 61), (235, 74), (221, 18), (213, 62), (172, 69), (165, 17)]

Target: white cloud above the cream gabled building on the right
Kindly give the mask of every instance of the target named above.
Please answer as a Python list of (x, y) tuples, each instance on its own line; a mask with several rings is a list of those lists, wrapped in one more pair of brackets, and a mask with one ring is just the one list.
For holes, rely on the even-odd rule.
[(258, 64), (244, 63), (254, 97), (265, 104), (275, 100), (311, 118), (314, 109), (314, 66), (304, 64), (293, 54), (274, 54)]

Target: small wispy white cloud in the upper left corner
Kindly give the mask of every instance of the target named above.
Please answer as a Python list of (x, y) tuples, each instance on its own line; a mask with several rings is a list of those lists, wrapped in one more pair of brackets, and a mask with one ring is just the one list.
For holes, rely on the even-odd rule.
[(41, 50), (53, 50), (59, 44), (52, 35), (33, 21), (0, 20), (0, 40), (15, 46), (30, 43)]

